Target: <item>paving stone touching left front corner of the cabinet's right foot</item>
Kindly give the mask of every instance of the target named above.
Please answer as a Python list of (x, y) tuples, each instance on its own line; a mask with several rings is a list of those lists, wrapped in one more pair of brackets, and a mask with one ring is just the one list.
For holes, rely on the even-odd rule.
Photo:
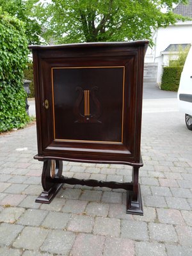
[(125, 220), (133, 220), (132, 214), (126, 214), (126, 204), (110, 204), (109, 217)]

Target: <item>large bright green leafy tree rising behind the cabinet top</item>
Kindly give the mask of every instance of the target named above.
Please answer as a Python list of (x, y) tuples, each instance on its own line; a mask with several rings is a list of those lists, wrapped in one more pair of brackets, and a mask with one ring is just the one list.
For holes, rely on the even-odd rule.
[(152, 29), (185, 20), (173, 13), (173, 4), (188, 3), (187, 0), (45, 2), (38, 4), (36, 15), (47, 29), (45, 36), (54, 38), (55, 43), (151, 40)]

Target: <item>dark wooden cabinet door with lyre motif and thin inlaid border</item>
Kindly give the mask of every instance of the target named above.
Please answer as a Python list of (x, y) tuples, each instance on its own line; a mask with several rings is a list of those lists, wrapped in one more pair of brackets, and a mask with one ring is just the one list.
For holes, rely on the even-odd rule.
[(136, 57), (40, 61), (42, 152), (130, 161), (136, 126)]

